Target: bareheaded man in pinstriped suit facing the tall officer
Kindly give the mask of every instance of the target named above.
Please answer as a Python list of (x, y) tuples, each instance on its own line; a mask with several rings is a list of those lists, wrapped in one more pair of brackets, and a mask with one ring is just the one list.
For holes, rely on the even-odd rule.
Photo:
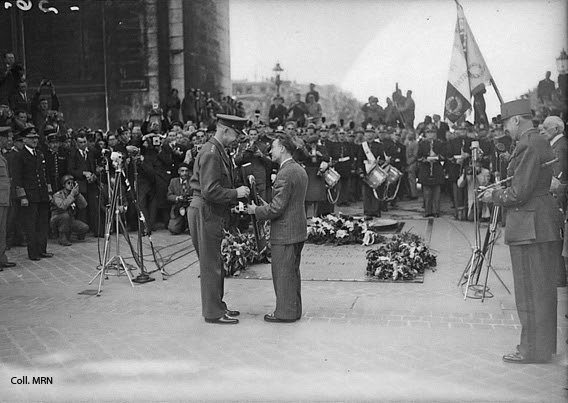
[(272, 143), (272, 160), (280, 164), (270, 204), (247, 208), (259, 220), (270, 220), (272, 279), (276, 310), (264, 316), (267, 322), (295, 322), (302, 317), (300, 260), (307, 237), (304, 199), (308, 189), (306, 171), (292, 158), (296, 146), (281, 133)]

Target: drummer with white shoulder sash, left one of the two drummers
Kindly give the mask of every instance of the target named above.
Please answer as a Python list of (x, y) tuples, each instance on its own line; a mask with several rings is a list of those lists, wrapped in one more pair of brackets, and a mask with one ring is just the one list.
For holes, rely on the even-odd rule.
[[(375, 128), (367, 125), (365, 128), (364, 141), (357, 149), (358, 172), (361, 178), (368, 177), (369, 174), (377, 167), (385, 162), (384, 146), (376, 138)], [(390, 162), (390, 160), (389, 160)], [(380, 201), (375, 196), (379, 194), (381, 185), (376, 192), (367, 183), (363, 184), (363, 213), (367, 218), (380, 217), (381, 206)]]

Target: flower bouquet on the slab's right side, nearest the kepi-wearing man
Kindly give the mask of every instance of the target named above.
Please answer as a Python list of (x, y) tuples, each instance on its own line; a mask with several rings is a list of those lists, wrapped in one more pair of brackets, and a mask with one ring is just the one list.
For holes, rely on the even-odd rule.
[(367, 275), (381, 280), (413, 280), (426, 269), (435, 271), (436, 255), (413, 233), (395, 235), (367, 251)]

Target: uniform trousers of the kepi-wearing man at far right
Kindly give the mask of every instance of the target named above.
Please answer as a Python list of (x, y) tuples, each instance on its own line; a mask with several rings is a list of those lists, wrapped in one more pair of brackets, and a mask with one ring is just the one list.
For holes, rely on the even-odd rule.
[(519, 352), (547, 361), (556, 353), (556, 265), (561, 241), (510, 245), (515, 302), (521, 322)]

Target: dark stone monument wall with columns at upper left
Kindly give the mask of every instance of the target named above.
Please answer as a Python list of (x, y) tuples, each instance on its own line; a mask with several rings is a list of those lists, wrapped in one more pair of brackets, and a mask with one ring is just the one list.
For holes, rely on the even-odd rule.
[(51, 0), (57, 14), (27, 1), (0, 10), (0, 50), (24, 64), (30, 95), (55, 84), (71, 127), (142, 120), (172, 88), (230, 94), (228, 0)]

